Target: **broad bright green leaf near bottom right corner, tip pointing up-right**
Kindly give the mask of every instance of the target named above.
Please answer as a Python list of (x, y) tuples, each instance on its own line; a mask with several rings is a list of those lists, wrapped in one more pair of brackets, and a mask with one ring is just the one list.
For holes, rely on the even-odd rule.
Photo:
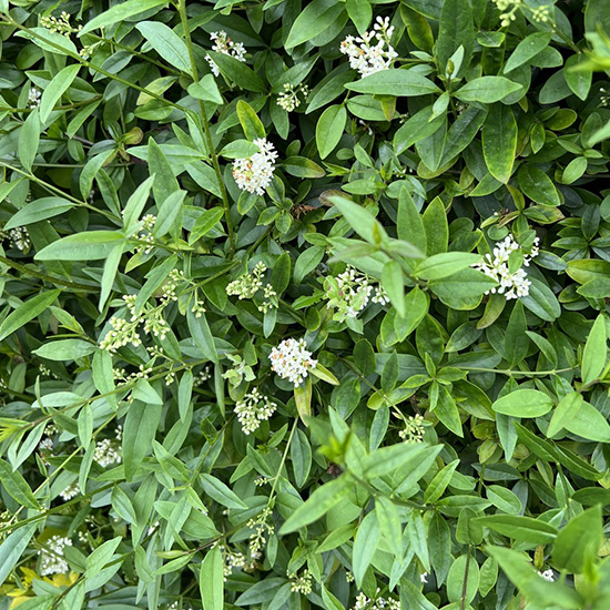
[(589, 508), (570, 519), (558, 533), (552, 549), (553, 566), (578, 575), (597, 561), (603, 541), (601, 506)]

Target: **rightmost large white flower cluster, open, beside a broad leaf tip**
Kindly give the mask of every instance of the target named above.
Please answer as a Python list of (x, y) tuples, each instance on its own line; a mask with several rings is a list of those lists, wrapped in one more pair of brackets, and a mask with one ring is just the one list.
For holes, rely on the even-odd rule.
[[(523, 256), (523, 265), (529, 266), (530, 261), (538, 255), (539, 238), (536, 237), (529, 256)], [(491, 288), (485, 294), (504, 294), (507, 301), (520, 298), (529, 294), (531, 282), (527, 278), (527, 273), (522, 267), (510, 271), (509, 257), (512, 252), (520, 248), (512, 235), (507, 235), (502, 242), (496, 244), (494, 253), (486, 254), (485, 258), (475, 265), (475, 268), (482, 271), (486, 275), (498, 282), (497, 288)]]

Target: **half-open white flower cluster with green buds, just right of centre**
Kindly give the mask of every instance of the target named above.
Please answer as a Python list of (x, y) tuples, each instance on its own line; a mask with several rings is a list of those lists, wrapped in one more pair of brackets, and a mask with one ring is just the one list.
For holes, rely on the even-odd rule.
[(386, 305), (389, 298), (382, 286), (373, 286), (368, 275), (359, 273), (353, 266), (336, 277), (325, 279), (327, 307), (335, 307), (333, 319), (344, 322), (348, 317), (357, 317), (369, 301)]

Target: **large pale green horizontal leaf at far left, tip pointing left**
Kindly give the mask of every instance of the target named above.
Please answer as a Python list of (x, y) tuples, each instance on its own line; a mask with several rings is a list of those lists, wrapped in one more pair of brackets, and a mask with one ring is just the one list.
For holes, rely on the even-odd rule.
[(68, 235), (43, 247), (37, 261), (101, 261), (114, 246), (126, 243), (118, 231), (87, 231)]

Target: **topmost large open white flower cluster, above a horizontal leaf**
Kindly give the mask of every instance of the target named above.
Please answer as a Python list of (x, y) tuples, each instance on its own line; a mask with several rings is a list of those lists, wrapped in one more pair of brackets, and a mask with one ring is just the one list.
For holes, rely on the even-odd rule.
[[(362, 77), (368, 77), (382, 70), (388, 70), (392, 62), (398, 57), (389, 43), (394, 33), (394, 26), (389, 26), (389, 18), (377, 17), (374, 30), (365, 32), (362, 38), (348, 35), (340, 43), (340, 52), (348, 57), (349, 65)], [(377, 42), (374, 43), (374, 39)], [(386, 48), (387, 47), (387, 48)]]

